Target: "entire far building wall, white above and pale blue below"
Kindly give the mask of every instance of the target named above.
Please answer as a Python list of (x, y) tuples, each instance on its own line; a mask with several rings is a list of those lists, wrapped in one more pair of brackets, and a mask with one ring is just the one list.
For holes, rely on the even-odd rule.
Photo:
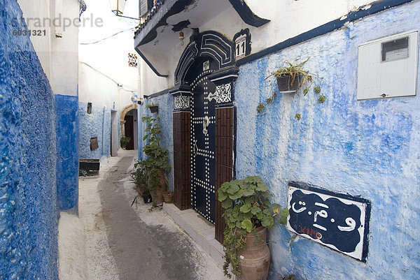
[[(87, 9), (81, 20), (90, 19), (90, 24), (82, 24), (79, 34), (79, 121), (80, 157), (103, 159), (111, 155), (111, 146), (120, 146), (116, 131), (116, 121), (111, 124), (111, 110), (120, 114), (127, 106), (139, 99), (139, 68), (128, 64), (128, 54), (134, 51), (133, 36), (135, 20), (117, 17), (111, 12), (109, 1), (85, 0)], [(125, 14), (135, 17), (138, 1), (129, 0)], [(86, 21), (88, 22), (88, 21)], [(92, 24), (94, 22), (94, 24)], [(137, 54), (138, 55), (138, 54)], [(92, 113), (87, 114), (87, 103), (92, 103)], [(114, 113), (115, 114), (115, 113)], [(134, 124), (134, 132), (137, 125)], [(118, 129), (118, 131), (120, 131)], [(98, 138), (99, 148), (90, 150), (90, 138)], [(137, 138), (134, 137), (134, 148)]]

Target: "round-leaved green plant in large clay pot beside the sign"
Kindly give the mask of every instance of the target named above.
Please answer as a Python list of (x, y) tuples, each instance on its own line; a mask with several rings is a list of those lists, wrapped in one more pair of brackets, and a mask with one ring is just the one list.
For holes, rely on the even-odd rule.
[[(266, 244), (267, 228), (275, 222), (286, 224), (288, 209), (269, 202), (267, 185), (258, 176), (225, 182), (218, 189), (218, 201), (225, 209), (223, 218), (223, 250), (227, 277), (232, 274), (244, 279), (267, 279), (269, 248)], [(239, 278), (241, 279), (241, 278)]]

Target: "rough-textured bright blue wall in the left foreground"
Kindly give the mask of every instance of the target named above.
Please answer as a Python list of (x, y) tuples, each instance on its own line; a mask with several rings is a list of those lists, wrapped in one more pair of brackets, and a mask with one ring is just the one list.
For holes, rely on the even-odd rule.
[(0, 0), (0, 279), (58, 279), (54, 96), (22, 11)]

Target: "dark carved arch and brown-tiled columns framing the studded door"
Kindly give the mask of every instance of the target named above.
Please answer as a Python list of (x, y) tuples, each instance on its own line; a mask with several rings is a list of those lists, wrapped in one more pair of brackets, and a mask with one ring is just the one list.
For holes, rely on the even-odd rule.
[[(174, 133), (174, 204), (179, 209), (188, 209), (191, 207), (191, 129), (190, 129), (190, 114), (191, 114), (191, 95), (190, 82), (188, 75), (191, 74), (192, 66), (197, 65), (197, 61), (202, 61), (205, 57), (211, 57), (218, 62), (218, 70), (209, 75), (209, 80), (216, 84), (216, 111), (228, 108), (231, 111), (228, 123), (225, 119), (220, 119), (216, 127), (220, 126), (225, 129), (229, 127), (232, 129), (232, 137), (228, 141), (221, 141), (220, 145), (215, 147), (215, 155), (232, 153), (232, 156), (227, 155), (230, 159), (228, 172), (216, 172), (216, 240), (223, 241), (223, 230), (225, 223), (221, 215), (223, 208), (221, 203), (217, 200), (217, 189), (222, 182), (230, 181), (235, 178), (235, 80), (238, 77), (239, 68), (235, 64), (235, 44), (225, 38), (222, 34), (216, 31), (205, 31), (192, 40), (184, 50), (179, 60), (179, 64), (175, 71), (175, 87), (169, 90), (169, 93), (174, 97), (174, 112), (173, 112), (173, 133)], [(225, 138), (224, 135), (220, 135)], [(219, 161), (218, 161), (219, 160)], [(221, 159), (217, 159), (216, 165), (222, 164)], [(225, 161), (223, 161), (225, 163)], [(216, 166), (217, 170), (217, 166)]]

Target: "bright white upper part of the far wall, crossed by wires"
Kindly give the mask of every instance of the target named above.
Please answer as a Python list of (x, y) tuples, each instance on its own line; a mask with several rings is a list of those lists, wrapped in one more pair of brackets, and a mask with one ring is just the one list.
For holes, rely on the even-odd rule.
[[(83, 69), (79, 101), (123, 110), (132, 105), (133, 96), (139, 96), (140, 67), (128, 66), (127, 57), (128, 53), (136, 54), (132, 43), (134, 31), (130, 30), (136, 26), (136, 21), (113, 15), (109, 2), (87, 0), (85, 3), (87, 10), (82, 20), (83, 17), (100, 19), (101, 24), (80, 27), (79, 61)], [(133, 0), (127, 1), (125, 8), (135, 10), (133, 3)]]

